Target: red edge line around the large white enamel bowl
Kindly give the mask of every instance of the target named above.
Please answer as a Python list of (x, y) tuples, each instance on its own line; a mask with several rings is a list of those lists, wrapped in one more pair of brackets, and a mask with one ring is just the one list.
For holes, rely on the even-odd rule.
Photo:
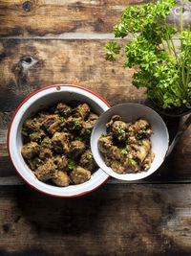
[[(44, 88), (41, 88), (35, 92), (33, 92), (30, 96), (28, 96), (17, 108), (16, 110), (14, 111), (12, 117), (11, 117), (11, 122), (10, 122), (10, 126), (9, 126), (9, 129), (8, 129), (8, 138), (7, 138), (7, 146), (8, 146), (8, 152), (9, 152), (9, 155), (10, 155), (10, 158), (11, 158), (11, 152), (10, 152), (10, 131), (11, 131), (11, 125), (12, 125), (12, 122), (14, 120), (14, 117), (15, 115), (17, 114), (18, 110), (20, 109), (20, 107), (22, 105), (24, 105), (30, 98), (32, 98), (33, 95), (37, 94), (38, 92), (40, 91), (43, 91), (43, 90), (47, 90), (47, 89), (50, 89), (50, 88), (53, 88), (53, 87), (57, 87), (57, 86), (61, 86), (61, 87), (64, 87), (64, 86), (70, 86), (70, 87), (75, 87), (75, 88), (79, 88), (79, 89), (82, 89), (82, 90), (85, 90), (87, 92), (90, 92), (92, 94), (94, 94), (98, 99), (100, 99), (103, 103), (105, 103), (107, 106), (111, 107), (111, 105), (109, 105), (103, 98), (101, 98), (98, 94), (96, 94), (95, 92), (85, 88), (85, 87), (82, 87), (82, 86), (79, 86), (79, 85), (74, 85), (74, 84), (53, 84), (53, 85), (50, 85), (50, 86), (47, 86), (47, 87), (44, 87)], [(82, 193), (79, 193), (79, 194), (76, 194), (74, 196), (58, 196), (58, 195), (53, 195), (53, 194), (49, 194), (47, 192), (44, 192), (40, 189), (37, 189), (35, 186), (33, 186), (31, 183), (29, 183), (19, 172), (18, 170), (15, 168), (14, 164), (13, 164), (13, 161), (12, 161), (12, 158), (11, 158), (11, 163), (15, 169), (15, 171), (17, 172), (17, 174), (28, 184), (30, 185), (33, 189), (37, 190), (38, 192), (41, 192), (45, 195), (48, 195), (48, 196), (52, 196), (52, 197), (55, 197), (55, 198), (75, 198), (75, 197), (81, 197), (85, 194), (88, 194), (94, 190), (96, 190), (98, 187), (100, 187), (103, 183), (105, 183), (108, 178), (110, 176), (108, 176), (102, 183), (100, 183), (98, 186), (96, 186), (96, 188), (92, 189), (92, 190), (89, 190), (89, 191), (85, 191), (85, 192), (82, 192)]]

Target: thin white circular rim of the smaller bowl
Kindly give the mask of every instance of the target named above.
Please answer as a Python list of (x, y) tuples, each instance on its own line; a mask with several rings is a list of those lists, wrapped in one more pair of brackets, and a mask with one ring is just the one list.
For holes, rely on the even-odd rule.
[[(105, 166), (106, 166), (105, 162), (103, 161), (103, 162), (104, 162), (104, 164), (103, 164), (104, 166), (103, 166), (102, 164), (100, 165), (100, 162), (98, 162), (98, 160), (97, 160), (97, 158), (99, 158), (99, 157), (96, 157), (96, 156), (95, 156), (95, 155), (96, 155), (96, 153), (95, 153), (96, 150), (94, 150), (94, 148), (93, 148), (92, 151), (93, 151), (93, 155), (95, 156), (96, 164), (97, 164), (107, 175), (110, 175), (110, 176), (112, 176), (112, 177), (114, 177), (114, 178), (116, 178), (116, 179), (118, 179), (118, 180), (123, 180), (123, 181), (131, 182), (131, 181), (137, 181), (137, 180), (144, 179), (144, 178), (148, 177), (149, 175), (153, 175), (157, 170), (159, 170), (159, 167), (160, 167), (160, 166), (162, 165), (162, 163), (164, 162), (164, 160), (165, 160), (165, 158), (166, 158), (166, 155), (167, 155), (167, 151), (168, 151), (168, 149), (169, 149), (169, 132), (168, 132), (168, 128), (166, 127), (165, 122), (163, 121), (163, 119), (161, 118), (161, 116), (159, 115), (159, 113), (158, 113), (155, 109), (153, 109), (153, 108), (151, 108), (151, 107), (149, 107), (149, 106), (147, 106), (147, 105), (143, 105), (143, 104), (139, 104), (139, 103), (132, 103), (132, 102), (126, 102), (126, 103), (122, 103), (122, 104), (117, 104), (117, 105), (111, 106), (108, 110), (106, 110), (105, 112), (103, 112), (103, 113), (100, 114), (100, 116), (99, 116), (99, 118), (98, 118), (98, 122), (100, 122), (100, 120), (101, 120), (103, 117), (105, 117), (105, 115), (107, 115), (108, 113), (112, 112), (113, 109), (116, 110), (117, 108), (123, 107), (124, 105), (125, 105), (125, 106), (127, 106), (127, 105), (137, 105), (138, 107), (144, 107), (145, 109), (147, 109), (147, 111), (150, 111), (150, 112), (152, 112), (152, 113), (155, 113), (155, 115), (158, 116), (158, 119), (159, 119), (160, 123), (162, 124), (162, 126), (163, 126), (163, 128), (164, 128), (164, 130), (165, 130), (165, 132), (166, 132), (166, 136), (167, 136), (166, 148), (165, 148), (165, 151), (164, 151), (162, 160), (160, 161), (158, 168), (155, 169), (152, 173), (145, 172), (145, 173), (144, 173), (145, 175), (143, 175), (142, 177), (139, 177), (139, 174), (143, 174), (143, 172), (136, 174), (137, 177), (129, 178), (128, 175), (131, 175), (131, 174), (124, 174), (124, 175), (123, 175), (123, 174), (117, 174), (116, 172), (114, 172), (114, 171), (112, 170), (111, 167), (109, 167), (110, 171), (106, 171), (106, 170), (105, 170), (105, 169), (106, 169), (106, 168), (105, 168)], [(114, 113), (114, 115), (115, 115), (115, 114), (119, 114), (119, 113)], [(94, 138), (94, 136), (96, 136), (95, 134), (96, 134), (96, 128), (97, 128), (98, 122), (97, 122), (96, 126), (93, 128), (93, 131), (92, 131), (92, 134), (91, 134), (91, 147), (92, 147), (92, 145), (93, 145), (93, 141), (95, 141), (95, 140), (93, 140), (93, 138)], [(97, 149), (97, 151), (98, 151), (98, 149)]]

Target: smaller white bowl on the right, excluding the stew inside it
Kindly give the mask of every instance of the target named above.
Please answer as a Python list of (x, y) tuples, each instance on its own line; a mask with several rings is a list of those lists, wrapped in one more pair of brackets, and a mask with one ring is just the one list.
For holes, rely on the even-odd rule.
[[(138, 118), (146, 119), (152, 126), (154, 133), (151, 135), (152, 151), (155, 153), (154, 161), (147, 171), (137, 174), (119, 175), (115, 173), (112, 168), (106, 166), (101, 152), (98, 150), (97, 142), (101, 133), (107, 133), (105, 125), (110, 121), (113, 115), (120, 115), (125, 122), (135, 122)], [(102, 113), (96, 125), (93, 128), (91, 135), (91, 149), (96, 160), (97, 165), (107, 174), (121, 180), (138, 180), (148, 175), (152, 175), (159, 169), (163, 162), (166, 152), (168, 150), (169, 134), (165, 123), (159, 114), (145, 105), (126, 103), (115, 105), (109, 110)]]

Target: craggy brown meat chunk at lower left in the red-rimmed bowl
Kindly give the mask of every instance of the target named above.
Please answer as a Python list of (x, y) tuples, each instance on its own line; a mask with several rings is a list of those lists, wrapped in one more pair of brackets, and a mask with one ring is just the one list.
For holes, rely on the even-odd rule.
[(34, 174), (41, 181), (46, 181), (50, 178), (56, 177), (56, 166), (52, 159), (48, 159), (45, 164), (39, 166)]

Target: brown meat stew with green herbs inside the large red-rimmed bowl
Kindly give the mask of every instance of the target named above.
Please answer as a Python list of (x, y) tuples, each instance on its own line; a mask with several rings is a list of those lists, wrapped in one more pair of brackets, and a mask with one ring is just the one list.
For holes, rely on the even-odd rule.
[(21, 153), (33, 174), (61, 187), (89, 180), (97, 169), (90, 149), (97, 119), (86, 103), (59, 102), (24, 121)]

